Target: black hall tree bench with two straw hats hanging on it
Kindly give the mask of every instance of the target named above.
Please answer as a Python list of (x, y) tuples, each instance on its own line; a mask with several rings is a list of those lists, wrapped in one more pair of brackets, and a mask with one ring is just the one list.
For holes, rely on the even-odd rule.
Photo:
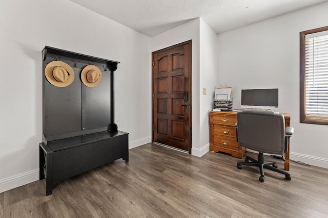
[(60, 181), (120, 158), (128, 162), (129, 134), (114, 122), (114, 71), (119, 62), (49, 46), (42, 54), (39, 179), (46, 178), (46, 195), (51, 195)]

